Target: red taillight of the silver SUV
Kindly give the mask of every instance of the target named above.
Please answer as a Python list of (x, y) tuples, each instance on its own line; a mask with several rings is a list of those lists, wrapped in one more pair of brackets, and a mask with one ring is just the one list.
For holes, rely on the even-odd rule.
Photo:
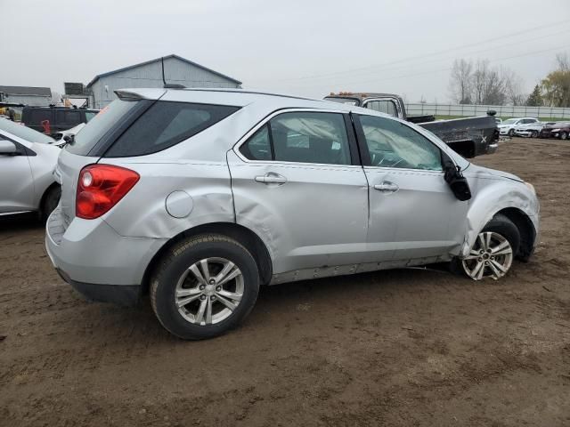
[(113, 165), (89, 165), (79, 173), (75, 211), (79, 218), (93, 220), (117, 205), (134, 184), (139, 174)]

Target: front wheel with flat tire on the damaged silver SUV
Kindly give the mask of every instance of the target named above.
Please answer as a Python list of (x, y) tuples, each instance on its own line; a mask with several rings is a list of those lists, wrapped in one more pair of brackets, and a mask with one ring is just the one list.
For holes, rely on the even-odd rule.
[(455, 269), (468, 278), (503, 278), (509, 271), (520, 245), (517, 226), (505, 215), (497, 214), (477, 235), (468, 256), (456, 259)]

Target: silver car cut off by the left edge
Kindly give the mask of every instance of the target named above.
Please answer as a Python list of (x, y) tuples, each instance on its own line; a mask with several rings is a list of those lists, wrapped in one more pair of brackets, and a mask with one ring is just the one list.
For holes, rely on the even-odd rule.
[(0, 215), (52, 213), (60, 199), (53, 170), (61, 149), (53, 139), (0, 118)]

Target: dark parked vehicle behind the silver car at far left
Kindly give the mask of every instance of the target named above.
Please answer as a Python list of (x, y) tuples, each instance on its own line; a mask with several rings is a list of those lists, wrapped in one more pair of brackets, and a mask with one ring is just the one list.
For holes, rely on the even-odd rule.
[(31, 107), (22, 109), (21, 123), (37, 132), (45, 133), (42, 122), (49, 122), (50, 132), (61, 133), (80, 123), (87, 123), (99, 111), (96, 109), (73, 109), (69, 107)]

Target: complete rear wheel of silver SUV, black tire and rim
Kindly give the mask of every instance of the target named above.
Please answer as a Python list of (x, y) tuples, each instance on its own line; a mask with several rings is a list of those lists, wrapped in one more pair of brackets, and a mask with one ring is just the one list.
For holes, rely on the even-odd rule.
[(238, 326), (258, 292), (253, 256), (221, 235), (178, 243), (151, 278), (152, 310), (168, 332), (184, 340), (212, 338)]

